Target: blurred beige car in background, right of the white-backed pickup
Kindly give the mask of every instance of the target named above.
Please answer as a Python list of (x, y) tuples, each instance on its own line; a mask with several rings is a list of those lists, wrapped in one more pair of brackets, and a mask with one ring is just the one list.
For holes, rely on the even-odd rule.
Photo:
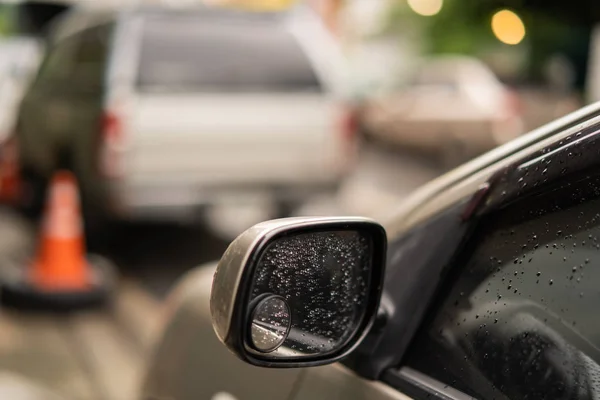
[(367, 137), (417, 149), (455, 166), (523, 133), (518, 96), (481, 61), (428, 60), (404, 88), (361, 107)]

